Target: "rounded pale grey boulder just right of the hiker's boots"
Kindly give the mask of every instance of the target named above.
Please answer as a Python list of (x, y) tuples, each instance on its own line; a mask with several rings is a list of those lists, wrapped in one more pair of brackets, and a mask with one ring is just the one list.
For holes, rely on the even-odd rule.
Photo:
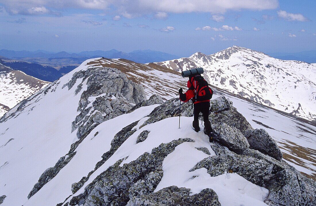
[(212, 129), (215, 134), (214, 140), (228, 147), (231, 151), (240, 153), (246, 148), (249, 148), (247, 139), (241, 134), (240, 130), (230, 127), (225, 123), (212, 124)]

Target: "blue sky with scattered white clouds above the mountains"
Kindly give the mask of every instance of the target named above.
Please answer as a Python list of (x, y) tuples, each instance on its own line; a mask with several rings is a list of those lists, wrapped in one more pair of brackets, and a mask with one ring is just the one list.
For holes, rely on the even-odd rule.
[(316, 49), (314, 0), (0, 0), (0, 49)]

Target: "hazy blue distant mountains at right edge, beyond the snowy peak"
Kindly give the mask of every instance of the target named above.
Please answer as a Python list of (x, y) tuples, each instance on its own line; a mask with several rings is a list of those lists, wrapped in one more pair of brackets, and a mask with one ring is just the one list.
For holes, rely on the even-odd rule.
[(269, 56), (282, 60), (296, 60), (307, 63), (316, 63), (316, 50), (301, 51), (295, 53), (274, 52), (267, 53)]

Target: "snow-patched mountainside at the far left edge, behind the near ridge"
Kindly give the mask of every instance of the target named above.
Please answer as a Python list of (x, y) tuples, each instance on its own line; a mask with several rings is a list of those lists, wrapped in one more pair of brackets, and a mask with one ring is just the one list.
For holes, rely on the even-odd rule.
[(48, 84), (49, 82), (0, 64), (0, 117), (17, 103)]

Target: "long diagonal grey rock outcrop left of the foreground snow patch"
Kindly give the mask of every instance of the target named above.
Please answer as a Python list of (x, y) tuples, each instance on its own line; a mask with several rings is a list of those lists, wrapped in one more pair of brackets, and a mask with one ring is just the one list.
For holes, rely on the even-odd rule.
[[(119, 167), (123, 160), (118, 161), (86, 186), (83, 194), (73, 197), (69, 204), (83, 204), (84, 206), (126, 205), (130, 200), (129, 188), (135, 185), (140, 179), (146, 179), (146, 175), (151, 172), (161, 170), (164, 158), (170, 154), (177, 145), (183, 142), (193, 142), (193, 140), (190, 138), (180, 138), (169, 143), (162, 143), (159, 147), (153, 148), (151, 154), (144, 153), (135, 161), (124, 164), (123, 167)], [(160, 178), (149, 179), (155, 180), (155, 182), (144, 181), (145, 187), (158, 185), (160, 182)], [(145, 185), (145, 182), (149, 183), (149, 185)], [(140, 193), (143, 191), (142, 187), (133, 188), (138, 188), (137, 191), (139, 190)], [(134, 193), (135, 192), (134, 190)]]

